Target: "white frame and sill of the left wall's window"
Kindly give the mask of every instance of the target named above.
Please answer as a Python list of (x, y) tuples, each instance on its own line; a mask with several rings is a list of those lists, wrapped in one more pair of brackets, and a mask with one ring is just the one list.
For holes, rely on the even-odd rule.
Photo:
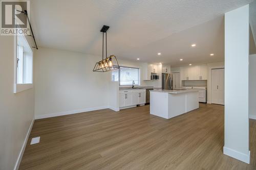
[[(20, 35), (19, 35), (20, 36)], [(26, 45), (29, 47), (29, 51), (32, 54), (32, 75), (31, 75), (31, 82), (28, 84), (18, 84), (17, 83), (17, 59), (18, 59), (18, 35), (14, 36), (14, 85), (13, 85), (13, 93), (18, 93), (24, 90), (28, 90), (33, 88), (33, 74), (34, 74), (34, 63), (33, 63), (33, 50), (31, 49), (26, 37), (23, 35), (25, 42), (27, 43)], [(24, 77), (23, 77), (24, 79)]]

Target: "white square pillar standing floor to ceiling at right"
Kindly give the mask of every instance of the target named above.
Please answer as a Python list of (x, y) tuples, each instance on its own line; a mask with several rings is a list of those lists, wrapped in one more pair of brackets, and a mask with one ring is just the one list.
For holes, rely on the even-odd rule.
[(246, 163), (249, 152), (249, 5), (225, 13), (225, 145)]

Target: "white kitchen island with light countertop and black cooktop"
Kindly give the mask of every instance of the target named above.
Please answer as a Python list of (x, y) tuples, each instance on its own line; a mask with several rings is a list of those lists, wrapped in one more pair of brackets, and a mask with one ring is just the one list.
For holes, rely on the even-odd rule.
[(172, 118), (199, 108), (197, 89), (151, 90), (150, 114)]

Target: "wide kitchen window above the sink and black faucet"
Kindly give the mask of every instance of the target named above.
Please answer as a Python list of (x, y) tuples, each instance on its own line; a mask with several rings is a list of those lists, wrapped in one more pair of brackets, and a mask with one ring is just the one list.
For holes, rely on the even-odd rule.
[(119, 85), (139, 85), (139, 68), (123, 67), (112, 71), (112, 81), (119, 81)]

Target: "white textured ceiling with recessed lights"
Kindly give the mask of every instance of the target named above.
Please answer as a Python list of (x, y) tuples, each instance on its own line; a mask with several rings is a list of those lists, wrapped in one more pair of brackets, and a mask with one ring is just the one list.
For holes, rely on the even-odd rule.
[(179, 66), (223, 61), (223, 14), (250, 2), (32, 0), (31, 13), (39, 46), (100, 56), (99, 30), (108, 25), (109, 54)]

